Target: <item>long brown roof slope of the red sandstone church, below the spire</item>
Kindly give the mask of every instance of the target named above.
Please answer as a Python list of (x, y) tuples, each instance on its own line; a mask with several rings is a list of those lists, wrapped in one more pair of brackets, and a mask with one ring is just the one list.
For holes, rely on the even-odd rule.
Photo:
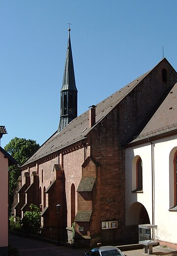
[[(151, 71), (151, 70), (150, 70)], [(126, 95), (128, 95), (150, 72), (146, 72), (113, 95), (102, 100), (96, 106), (96, 123), (89, 128), (89, 110), (73, 119), (59, 133), (56, 131), (22, 166), (35, 160), (39, 160), (75, 142), (84, 139), (93, 129)]]

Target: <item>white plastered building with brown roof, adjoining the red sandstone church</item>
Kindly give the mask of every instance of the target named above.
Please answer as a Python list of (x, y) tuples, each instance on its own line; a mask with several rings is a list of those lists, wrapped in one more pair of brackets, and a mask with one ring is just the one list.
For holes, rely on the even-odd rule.
[(154, 239), (177, 250), (177, 84), (126, 145), (125, 162), (125, 224), (146, 216), (157, 225)]

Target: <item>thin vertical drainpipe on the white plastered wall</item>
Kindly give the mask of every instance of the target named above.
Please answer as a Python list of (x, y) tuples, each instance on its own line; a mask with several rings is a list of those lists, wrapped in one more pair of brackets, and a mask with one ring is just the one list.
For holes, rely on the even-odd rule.
[(149, 138), (148, 142), (151, 144), (152, 224), (154, 225), (154, 144), (149, 140)]

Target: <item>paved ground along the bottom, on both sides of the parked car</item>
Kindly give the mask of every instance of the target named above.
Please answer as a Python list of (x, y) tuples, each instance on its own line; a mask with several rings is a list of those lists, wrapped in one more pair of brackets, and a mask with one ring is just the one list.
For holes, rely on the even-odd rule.
[[(89, 249), (73, 249), (63, 245), (55, 245), (49, 242), (9, 235), (9, 244), (19, 251), (20, 256), (82, 256)], [(125, 256), (148, 256), (143, 249), (123, 252)], [(177, 251), (170, 248), (157, 246), (153, 248), (153, 255), (156, 256), (177, 256)]]

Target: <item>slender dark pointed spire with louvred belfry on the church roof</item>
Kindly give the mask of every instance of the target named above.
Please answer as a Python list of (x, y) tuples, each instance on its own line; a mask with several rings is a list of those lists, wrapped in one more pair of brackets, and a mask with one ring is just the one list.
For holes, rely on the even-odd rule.
[(64, 66), (63, 82), (60, 91), (60, 121), (58, 132), (65, 128), (74, 118), (77, 117), (77, 88), (74, 76), (74, 65), (71, 50), (70, 31), (68, 29), (68, 43), (66, 61)]

